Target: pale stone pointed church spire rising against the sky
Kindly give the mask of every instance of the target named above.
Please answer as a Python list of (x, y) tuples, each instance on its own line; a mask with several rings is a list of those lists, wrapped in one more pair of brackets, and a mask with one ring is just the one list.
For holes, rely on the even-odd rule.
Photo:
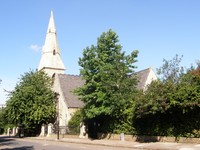
[(64, 74), (65, 66), (60, 56), (60, 49), (56, 37), (56, 27), (54, 23), (53, 12), (49, 19), (46, 39), (42, 48), (42, 58), (38, 70), (43, 69), (49, 76)]

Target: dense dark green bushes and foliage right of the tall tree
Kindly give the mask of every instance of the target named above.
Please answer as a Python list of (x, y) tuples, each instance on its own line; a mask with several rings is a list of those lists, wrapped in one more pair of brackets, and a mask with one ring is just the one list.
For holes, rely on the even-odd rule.
[(183, 73), (175, 64), (173, 76), (164, 74), (165, 80), (152, 82), (136, 102), (134, 127), (138, 134), (200, 136), (199, 68)]

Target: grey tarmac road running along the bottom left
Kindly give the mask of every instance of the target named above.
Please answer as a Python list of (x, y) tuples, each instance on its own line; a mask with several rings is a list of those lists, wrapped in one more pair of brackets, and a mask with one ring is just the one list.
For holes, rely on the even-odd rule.
[[(1, 150), (130, 150), (131, 148), (0, 137)], [(133, 149), (131, 149), (133, 150)]]

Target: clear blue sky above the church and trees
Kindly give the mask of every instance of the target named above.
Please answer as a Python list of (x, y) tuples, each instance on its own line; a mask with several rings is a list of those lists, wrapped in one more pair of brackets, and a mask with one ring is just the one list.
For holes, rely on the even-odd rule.
[[(183, 55), (182, 66), (200, 59), (199, 0), (1, 0), (0, 104), (22, 74), (41, 58), (50, 12), (67, 74), (79, 74), (83, 49), (110, 28), (123, 51), (139, 50), (137, 70)], [(136, 71), (137, 71), (136, 70)]]

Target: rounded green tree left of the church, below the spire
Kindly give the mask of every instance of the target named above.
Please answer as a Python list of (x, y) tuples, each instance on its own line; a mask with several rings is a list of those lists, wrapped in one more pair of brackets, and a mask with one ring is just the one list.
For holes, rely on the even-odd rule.
[(43, 71), (22, 75), (6, 103), (8, 122), (22, 124), (36, 134), (43, 123), (53, 122), (56, 107), (52, 84), (52, 79)]

